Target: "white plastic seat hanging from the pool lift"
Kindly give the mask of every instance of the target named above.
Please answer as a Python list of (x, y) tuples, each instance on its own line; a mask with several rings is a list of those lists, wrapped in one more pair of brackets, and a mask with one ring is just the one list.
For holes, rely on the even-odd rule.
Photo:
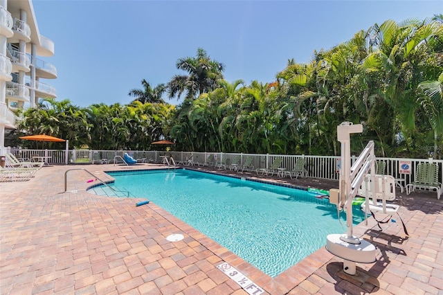
[[(366, 175), (365, 177), (369, 177), (369, 175)], [(399, 205), (386, 202), (395, 200), (395, 178), (390, 175), (374, 175), (374, 188), (375, 193), (372, 192), (371, 182), (363, 181), (363, 184), (361, 184), (361, 187), (359, 188), (358, 195), (366, 197), (366, 200), (361, 204), (360, 208), (363, 212), (370, 213), (381, 229), (380, 224), (389, 222), (391, 218), (386, 219), (386, 221), (377, 220), (375, 213), (383, 213), (392, 216), (395, 213), (398, 214), (400, 208)], [(379, 200), (381, 202), (379, 202)], [(400, 215), (399, 218), (401, 220)], [(401, 223), (403, 224), (404, 232), (408, 235), (403, 220), (401, 220)]]

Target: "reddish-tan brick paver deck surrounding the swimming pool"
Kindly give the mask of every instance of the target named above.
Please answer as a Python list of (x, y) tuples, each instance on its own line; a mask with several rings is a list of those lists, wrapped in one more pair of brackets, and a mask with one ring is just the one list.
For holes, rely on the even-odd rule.
[[(69, 172), (64, 193), (64, 173), (74, 168), (107, 179), (103, 171), (161, 166), (53, 166), (29, 181), (0, 182), (0, 294), (253, 294), (262, 289), (272, 295), (443, 295), (443, 198), (437, 200), (436, 193), (407, 196), (397, 189), (409, 236), (399, 216), (392, 217), (397, 222), (382, 224), (383, 231), (372, 217), (367, 225), (354, 226), (354, 235), (379, 249), (377, 262), (357, 263), (355, 276), (345, 274), (343, 260), (323, 247), (271, 278), (152, 202), (136, 206), (144, 199), (87, 193), (97, 182), (87, 183), (94, 179), (87, 172)], [(323, 179), (262, 178), (301, 187), (338, 185)], [(172, 233), (184, 239), (169, 242)], [(223, 262), (255, 285), (240, 287), (217, 268)]]

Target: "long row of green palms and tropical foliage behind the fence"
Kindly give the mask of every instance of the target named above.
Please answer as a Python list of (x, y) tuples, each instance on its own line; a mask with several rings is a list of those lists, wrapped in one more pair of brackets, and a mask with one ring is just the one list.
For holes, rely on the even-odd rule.
[[(442, 15), (375, 24), (315, 51), (308, 64), (288, 60), (269, 83), (224, 80), (224, 64), (203, 48), (176, 66), (188, 75), (157, 87), (142, 80), (129, 105), (76, 109), (62, 101), (64, 114), (54, 116), (71, 121), (51, 129), (63, 105), (44, 100), (24, 112), (20, 129), (100, 149), (146, 149), (165, 136), (177, 150), (336, 155), (336, 126), (349, 121), (363, 125), (354, 152), (372, 140), (383, 157), (443, 157)], [(171, 106), (164, 93), (183, 102)]]

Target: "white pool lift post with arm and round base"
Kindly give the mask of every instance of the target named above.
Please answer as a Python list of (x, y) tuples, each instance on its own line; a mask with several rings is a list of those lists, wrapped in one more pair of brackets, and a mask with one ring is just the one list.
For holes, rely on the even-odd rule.
[[(338, 209), (346, 211), (347, 233), (327, 235), (326, 249), (339, 258), (343, 258), (343, 271), (356, 274), (356, 262), (372, 263), (376, 261), (376, 248), (366, 240), (353, 235), (352, 232), (352, 201), (363, 181), (374, 179), (375, 156), (374, 142), (370, 141), (359, 158), (351, 167), (350, 134), (363, 132), (363, 125), (343, 122), (337, 126), (337, 138), (341, 142), (341, 169), (339, 188), (329, 190), (329, 202), (336, 204)], [(370, 175), (368, 175), (370, 171)], [(368, 179), (369, 177), (369, 179)], [(370, 181), (372, 192), (374, 181)], [(368, 196), (366, 196), (368, 202)], [(366, 216), (365, 216), (366, 217)]]

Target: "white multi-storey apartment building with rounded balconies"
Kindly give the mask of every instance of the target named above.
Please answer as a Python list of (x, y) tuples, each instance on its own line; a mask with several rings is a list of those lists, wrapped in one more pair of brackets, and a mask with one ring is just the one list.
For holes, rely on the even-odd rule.
[(54, 42), (40, 35), (32, 1), (0, 0), (0, 156), (15, 128), (13, 111), (56, 97), (50, 82), (57, 69), (44, 61), (53, 55)]

